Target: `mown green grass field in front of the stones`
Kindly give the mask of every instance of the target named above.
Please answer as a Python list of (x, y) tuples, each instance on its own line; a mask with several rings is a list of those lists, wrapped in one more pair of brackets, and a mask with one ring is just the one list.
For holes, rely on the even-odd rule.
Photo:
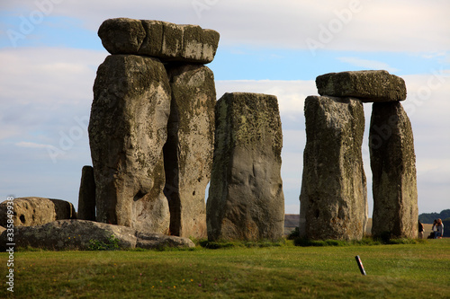
[[(364, 263), (362, 276), (355, 256)], [(193, 251), (19, 251), (1, 298), (450, 298), (450, 239)]]

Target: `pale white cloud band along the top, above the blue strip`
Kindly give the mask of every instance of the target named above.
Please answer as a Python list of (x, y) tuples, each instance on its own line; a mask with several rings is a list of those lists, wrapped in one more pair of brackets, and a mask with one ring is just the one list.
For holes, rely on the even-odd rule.
[[(450, 3), (400, 1), (58, 1), (49, 16), (83, 20), (97, 31), (108, 18), (130, 17), (200, 24), (219, 31), (223, 44), (308, 48), (316, 40), (327, 49), (436, 52), (448, 50)], [(193, 4), (204, 4), (200, 11)], [(22, 6), (19, 6), (22, 5)], [(37, 10), (35, 1), (2, 3), (4, 9)]]

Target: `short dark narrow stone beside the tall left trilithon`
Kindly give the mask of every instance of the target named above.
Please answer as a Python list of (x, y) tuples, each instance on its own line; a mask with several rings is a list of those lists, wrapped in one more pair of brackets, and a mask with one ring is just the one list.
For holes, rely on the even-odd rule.
[(83, 166), (81, 171), (76, 218), (95, 221), (95, 181), (92, 166)]

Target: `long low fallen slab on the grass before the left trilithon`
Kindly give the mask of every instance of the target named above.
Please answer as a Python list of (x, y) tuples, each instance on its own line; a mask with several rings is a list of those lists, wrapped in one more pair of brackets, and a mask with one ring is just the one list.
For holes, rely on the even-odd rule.
[[(90, 241), (111, 242), (117, 239), (119, 248), (191, 248), (195, 245), (187, 238), (160, 233), (139, 232), (121, 225), (103, 224), (88, 220), (58, 220), (39, 226), (19, 226), (14, 231), (16, 247), (41, 248), (52, 251), (88, 250)], [(6, 244), (6, 231), (0, 235), (0, 246)], [(4, 248), (1, 248), (4, 249)]]

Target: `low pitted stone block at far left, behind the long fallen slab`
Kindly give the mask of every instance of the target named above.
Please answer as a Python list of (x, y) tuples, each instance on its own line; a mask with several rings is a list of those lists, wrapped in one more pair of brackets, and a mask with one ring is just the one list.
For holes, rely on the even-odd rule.
[[(14, 198), (14, 227), (47, 224), (76, 218), (72, 203), (52, 198)], [(0, 225), (6, 226), (7, 201), (0, 204)]]

